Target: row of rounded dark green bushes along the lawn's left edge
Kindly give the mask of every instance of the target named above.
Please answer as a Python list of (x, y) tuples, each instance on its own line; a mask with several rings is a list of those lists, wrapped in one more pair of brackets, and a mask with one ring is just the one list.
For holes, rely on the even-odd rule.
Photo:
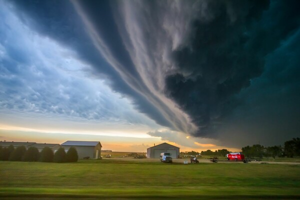
[(65, 152), (63, 147), (59, 147), (54, 153), (51, 148), (44, 147), (40, 152), (34, 146), (26, 149), (25, 146), (13, 145), (8, 147), (0, 146), (0, 160), (9, 161), (40, 161), (40, 162), (76, 162), (78, 160), (78, 153), (75, 147), (70, 147)]

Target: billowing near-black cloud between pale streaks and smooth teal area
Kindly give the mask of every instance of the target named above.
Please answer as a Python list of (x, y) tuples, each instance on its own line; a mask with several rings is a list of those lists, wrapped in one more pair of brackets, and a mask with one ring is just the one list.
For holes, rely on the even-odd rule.
[(267, 54), (297, 31), (298, 8), (298, 1), (208, 1), (207, 9), (213, 17), (204, 23), (192, 21), (189, 44), (173, 53), (178, 73), (166, 77), (165, 92), (198, 124), (195, 135), (214, 137), (221, 133), (230, 112), (259, 92), (257, 88), (243, 96), (245, 99), (236, 96), (262, 73)]

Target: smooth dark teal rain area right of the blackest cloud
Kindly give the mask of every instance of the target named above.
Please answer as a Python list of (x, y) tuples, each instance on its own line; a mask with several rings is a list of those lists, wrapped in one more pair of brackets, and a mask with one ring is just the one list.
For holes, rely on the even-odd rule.
[(299, 45), (298, 29), (266, 56), (264, 72), (238, 94), (243, 103), (227, 118), (221, 138), (234, 138), (235, 145), (278, 145), (299, 134)]

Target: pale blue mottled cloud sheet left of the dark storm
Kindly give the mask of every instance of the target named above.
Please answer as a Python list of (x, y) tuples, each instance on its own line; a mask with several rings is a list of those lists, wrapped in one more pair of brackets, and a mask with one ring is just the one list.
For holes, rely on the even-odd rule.
[(126, 128), (156, 126), (134, 110), (130, 100), (111, 91), (105, 79), (92, 75), (91, 66), (76, 51), (31, 30), (9, 4), (2, 5), (1, 118), (13, 112), (16, 118), (30, 116), (31, 120), (52, 117)]

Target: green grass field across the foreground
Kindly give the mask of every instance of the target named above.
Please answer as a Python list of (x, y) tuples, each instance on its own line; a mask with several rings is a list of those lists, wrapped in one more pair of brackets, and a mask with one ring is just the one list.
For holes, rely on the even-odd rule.
[(0, 198), (300, 198), (300, 164), (182, 162), (113, 157), (76, 163), (0, 161)]

